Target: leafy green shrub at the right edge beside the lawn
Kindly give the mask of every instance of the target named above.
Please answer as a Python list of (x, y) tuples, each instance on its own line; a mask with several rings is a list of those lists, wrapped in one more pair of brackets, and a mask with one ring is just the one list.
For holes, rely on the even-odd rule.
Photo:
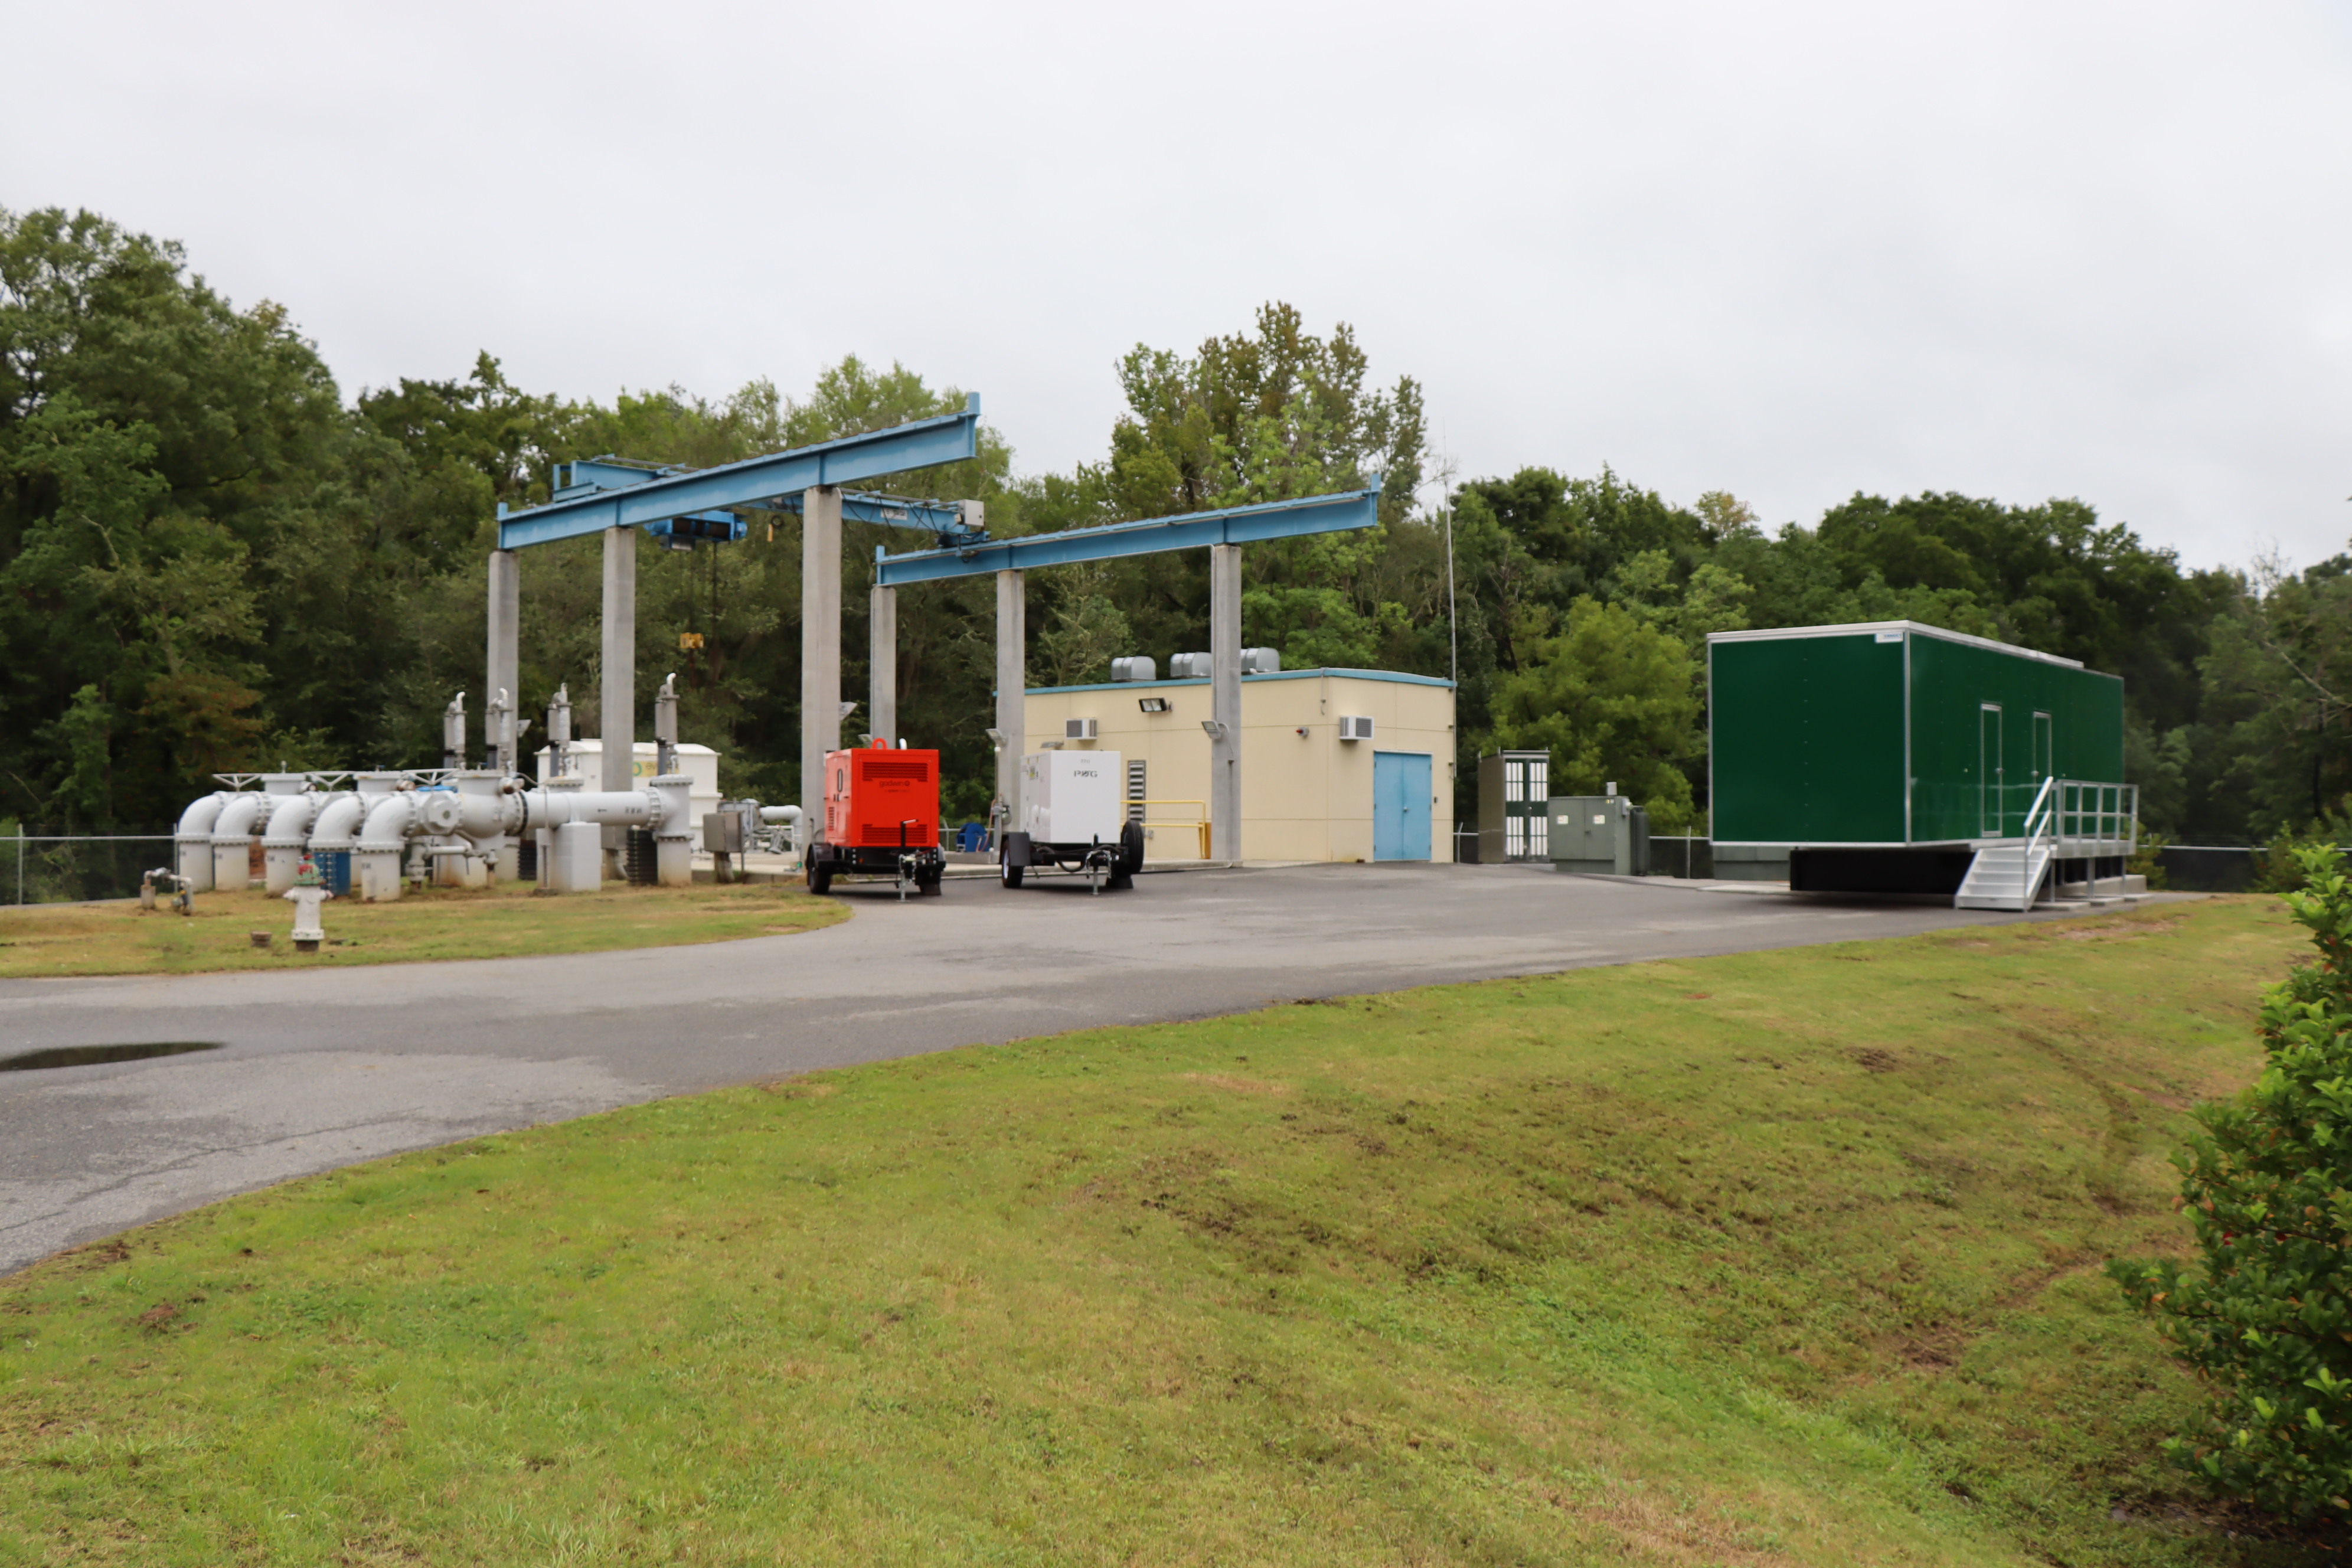
[(2263, 997), (2263, 1077), (2173, 1154), (2201, 1260), (2107, 1265), (2206, 1385), (2166, 1441), (2213, 1490), (2352, 1519), (2352, 879), (2303, 851), (2286, 896), (2319, 961)]

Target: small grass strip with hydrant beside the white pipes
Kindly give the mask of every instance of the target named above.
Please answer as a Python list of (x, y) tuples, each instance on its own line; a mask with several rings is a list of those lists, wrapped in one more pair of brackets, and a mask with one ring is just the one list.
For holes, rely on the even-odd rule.
[[(633, 889), (536, 898), (529, 884), (428, 889), (397, 903), (325, 905), (327, 947), (296, 954), (294, 905), (268, 893), (198, 893), (195, 914), (141, 910), (136, 900), (0, 910), (0, 980), (38, 976), (186, 976), (207, 969), (318, 969), (513, 959), (534, 952), (607, 952), (727, 943), (814, 931), (849, 919), (800, 884)], [(254, 931), (273, 933), (254, 947)]]

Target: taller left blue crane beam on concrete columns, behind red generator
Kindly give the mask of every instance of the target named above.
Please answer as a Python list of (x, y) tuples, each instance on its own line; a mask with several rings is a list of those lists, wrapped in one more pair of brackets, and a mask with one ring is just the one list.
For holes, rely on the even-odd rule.
[[(844, 494), (858, 480), (938, 468), (978, 456), (981, 395), (962, 411), (917, 418), (835, 442), (769, 451), (717, 468), (659, 468), (619, 458), (560, 463), (555, 496), (543, 505), (499, 505), (499, 548), (489, 555), (489, 689), (520, 686), (520, 571), (517, 550), (562, 538), (604, 538), (604, 679), (602, 785), (630, 788), (637, 736), (637, 548), (635, 529), (668, 543), (743, 536), (741, 510), (800, 512), (800, 806), (804, 820), (823, 809), (826, 752), (840, 745), (842, 698), (842, 517), (929, 529), (938, 543), (985, 538), (976, 503), (941, 505), (896, 496)], [(489, 736), (492, 766), (520, 771), (513, 696), (506, 731)], [(875, 733), (889, 733), (880, 724)], [(896, 712), (889, 715), (891, 726)], [(607, 844), (612, 856), (619, 844)]]

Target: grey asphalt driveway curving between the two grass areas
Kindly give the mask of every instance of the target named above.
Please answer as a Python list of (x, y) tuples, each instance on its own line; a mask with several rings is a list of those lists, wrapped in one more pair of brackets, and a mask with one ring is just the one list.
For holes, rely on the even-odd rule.
[[(1559, 877), (1305, 865), (941, 898), (842, 893), (807, 936), (480, 964), (0, 980), (0, 1272), (294, 1175), (811, 1067), (1296, 997), (2039, 919)], [(329, 917), (332, 919), (332, 917)]]

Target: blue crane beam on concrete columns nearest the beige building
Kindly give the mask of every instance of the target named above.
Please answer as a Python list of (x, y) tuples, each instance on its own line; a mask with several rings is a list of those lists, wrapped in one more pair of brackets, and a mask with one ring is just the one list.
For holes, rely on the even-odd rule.
[[(1023, 574), (1037, 567), (1108, 562), (1162, 550), (1209, 550), (1209, 853), (1242, 858), (1242, 545), (1305, 534), (1341, 534), (1381, 522), (1381, 477), (1362, 489), (1258, 505), (1228, 505), (1181, 517), (1143, 517), (1096, 529), (967, 541), (910, 555), (875, 552), (875, 703), (898, 684), (896, 607), (908, 583), (964, 576), (997, 578), (997, 799), (1021, 823), (1021, 750), (1028, 743)], [(884, 635), (882, 628), (889, 628)], [(875, 733), (889, 733), (877, 729)]]

